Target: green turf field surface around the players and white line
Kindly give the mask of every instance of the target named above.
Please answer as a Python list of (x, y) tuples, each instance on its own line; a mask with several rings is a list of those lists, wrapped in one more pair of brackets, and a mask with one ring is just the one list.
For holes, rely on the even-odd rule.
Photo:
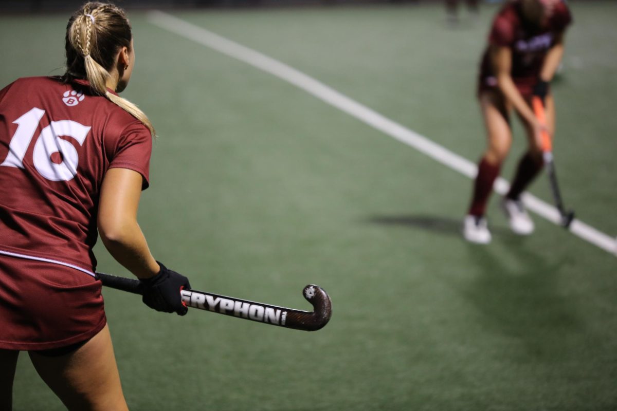
[[(561, 189), (617, 235), (617, 4), (572, 1), (554, 84)], [(328, 84), (476, 161), (474, 79), (489, 21), (445, 25), (441, 5), (173, 12)], [(281, 79), (130, 14), (137, 65), (124, 96), (159, 133), (139, 221), (194, 288), (310, 309), (315, 333), (105, 290), (132, 410), (616, 410), (617, 258), (535, 218), (463, 242), (468, 177)], [(0, 17), (0, 83), (62, 73), (59, 16)], [(523, 150), (521, 128), (503, 176)], [(551, 202), (546, 176), (532, 193)], [(99, 271), (128, 275), (97, 246)], [(59, 410), (26, 355), (15, 410)]]

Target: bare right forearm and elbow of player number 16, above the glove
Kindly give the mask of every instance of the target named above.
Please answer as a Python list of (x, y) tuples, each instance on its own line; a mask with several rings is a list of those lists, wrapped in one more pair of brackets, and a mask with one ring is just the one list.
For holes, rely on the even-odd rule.
[(141, 174), (111, 168), (105, 174), (99, 199), (99, 235), (110, 254), (139, 279), (156, 275), (159, 264), (150, 253), (137, 223)]

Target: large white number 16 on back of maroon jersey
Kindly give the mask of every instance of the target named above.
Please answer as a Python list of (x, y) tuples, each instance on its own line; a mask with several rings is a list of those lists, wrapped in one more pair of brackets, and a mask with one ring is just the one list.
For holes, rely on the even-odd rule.
[[(17, 124), (17, 131), (10, 139), (9, 154), (0, 166), (24, 168), (23, 157), (44, 113), (45, 110), (35, 107), (13, 121)], [(75, 177), (79, 155), (75, 147), (67, 140), (60, 139), (60, 136), (71, 137), (82, 145), (90, 129), (73, 120), (51, 121), (49, 126), (41, 131), (35, 143), (33, 162), (36, 171), (52, 181), (69, 181)], [(52, 161), (51, 156), (54, 153), (60, 153), (60, 163)]]

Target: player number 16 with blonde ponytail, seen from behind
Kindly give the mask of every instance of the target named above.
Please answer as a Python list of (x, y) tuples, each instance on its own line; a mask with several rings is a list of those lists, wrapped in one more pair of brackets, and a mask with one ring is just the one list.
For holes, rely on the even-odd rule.
[(144, 283), (144, 303), (186, 314), (186, 277), (152, 257), (136, 221), (152, 124), (118, 92), (135, 65), (131, 26), (112, 4), (68, 20), (62, 77), (0, 91), (0, 409), (19, 351), (71, 410), (126, 410), (92, 248)]

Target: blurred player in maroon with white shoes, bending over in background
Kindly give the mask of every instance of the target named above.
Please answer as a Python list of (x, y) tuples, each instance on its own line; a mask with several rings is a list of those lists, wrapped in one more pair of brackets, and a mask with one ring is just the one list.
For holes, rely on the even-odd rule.
[[(523, 123), (528, 149), (502, 206), (516, 234), (528, 235), (534, 230), (520, 195), (542, 169), (540, 133), (553, 134), (555, 104), (549, 82), (561, 61), (563, 37), (570, 22), (568, 7), (561, 0), (510, 0), (493, 20), (478, 81), (487, 148), (479, 161), (471, 205), (463, 222), (463, 237), (470, 242), (491, 242), (484, 214), (493, 183), (510, 150), (512, 109)], [(547, 129), (531, 108), (533, 96), (544, 100)]]

